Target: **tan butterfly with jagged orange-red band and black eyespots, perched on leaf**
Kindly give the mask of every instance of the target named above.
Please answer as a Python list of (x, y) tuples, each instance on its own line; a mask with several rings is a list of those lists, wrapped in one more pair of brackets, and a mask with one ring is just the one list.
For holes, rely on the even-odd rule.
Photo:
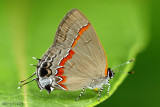
[(98, 88), (99, 100), (104, 86), (108, 85), (109, 94), (109, 80), (114, 77), (113, 69), (108, 68), (106, 58), (89, 20), (79, 10), (73, 9), (61, 21), (52, 46), (41, 59), (35, 58), (39, 60), (35, 65), (36, 72), (29, 78), (36, 75), (37, 77), (31, 81), (36, 80), (40, 90), (45, 89), (48, 93), (56, 89), (68, 91), (82, 89), (76, 100), (86, 88)]

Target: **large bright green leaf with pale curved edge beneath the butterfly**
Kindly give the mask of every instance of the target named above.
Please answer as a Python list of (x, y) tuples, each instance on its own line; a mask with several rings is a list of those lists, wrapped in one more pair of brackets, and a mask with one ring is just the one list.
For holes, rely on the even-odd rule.
[[(134, 0), (133, 0), (134, 1)], [(18, 90), (18, 82), (30, 76), (35, 68), (30, 63), (37, 62), (32, 56), (41, 57), (53, 42), (54, 34), (63, 16), (72, 8), (80, 9), (91, 21), (107, 54), (109, 67), (124, 63), (145, 49), (149, 40), (148, 5), (141, 2), (85, 2), (72, 1), (39, 2), (11, 1), (0, 3), (0, 103), (2, 105), (23, 106), (95, 106), (98, 93), (86, 90), (78, 101), (81, 90), (40, 92), (32, 82)], [(63, 7), (63, 8), (62, 8)], [(148, 18), (146, 18), (148, 17)], [(133, 63), (118, 68), (128, 72)], [(110, 97), (128, 76), (116, 72), (110, 81)], [(132, 78), (132, 77), (130, 77)], [(78, 84), (77, 84), (78, 85)], [(101, 94), (101, 102), (106, 100), (107, 88)]]

